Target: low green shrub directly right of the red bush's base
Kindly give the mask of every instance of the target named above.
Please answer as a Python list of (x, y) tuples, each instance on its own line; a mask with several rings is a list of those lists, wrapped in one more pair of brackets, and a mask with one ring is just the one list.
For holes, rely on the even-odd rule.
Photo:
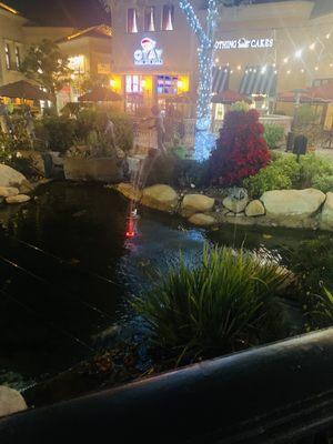
[(260, 170), (258, 174), (245, 179), (243, 185), (252, 198), (260, 198), (265, 191), (291, 189), (292, 180), (283, 173), (281, 168), (272, 163)]

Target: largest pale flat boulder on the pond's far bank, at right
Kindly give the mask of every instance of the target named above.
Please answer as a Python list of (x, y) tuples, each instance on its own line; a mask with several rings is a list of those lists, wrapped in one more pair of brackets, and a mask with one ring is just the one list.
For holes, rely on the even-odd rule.
[(321, 191), (307, 189), (266, 191), (260, 200), (269, 218), (304, 220), (314, 215), (325, 199)]

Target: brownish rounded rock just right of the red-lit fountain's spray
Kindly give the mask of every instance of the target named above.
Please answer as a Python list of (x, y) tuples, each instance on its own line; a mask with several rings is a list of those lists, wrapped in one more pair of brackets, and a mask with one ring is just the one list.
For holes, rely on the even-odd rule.
[(141, 203), (154, 210), (173, 212), (176, 210), (179, 196), (169, 185), (152, 185), (142, 192)]

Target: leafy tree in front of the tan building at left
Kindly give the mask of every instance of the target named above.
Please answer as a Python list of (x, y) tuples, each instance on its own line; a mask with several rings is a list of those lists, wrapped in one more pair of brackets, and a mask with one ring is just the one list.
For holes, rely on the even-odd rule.
[(21, 72), (37, 81), (54, 97), (70, 80), (69, 60), (51, 40), (32, 44), (21, 64)]

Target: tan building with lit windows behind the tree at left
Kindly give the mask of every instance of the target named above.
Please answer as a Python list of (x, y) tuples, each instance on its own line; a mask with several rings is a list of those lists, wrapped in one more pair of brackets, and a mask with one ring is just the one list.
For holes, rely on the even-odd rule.
[(59, 46), (73, 71), (72, 82), (58, 94), (59, 109), (69, 101), (77, 101), (83, 91), (75, 85), (84, 77), (100, 74), (111, 78), (110, 26), (102, 23), (87, 29), (43, 27), (0, 2), (0, 85), (24, 79), (20, 65), (26, 51), (43, 39)]

